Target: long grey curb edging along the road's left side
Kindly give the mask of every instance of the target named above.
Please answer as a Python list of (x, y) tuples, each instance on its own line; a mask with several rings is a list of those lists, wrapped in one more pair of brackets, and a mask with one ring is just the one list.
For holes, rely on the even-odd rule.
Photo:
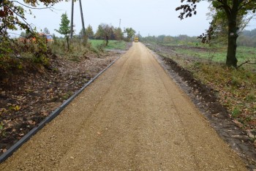
[(99, 74), (97, 74), (95, 77), (93, 77), (88, 83), (86, 83), (80, 90), (76, 91), (75, 94), (73, 94), (69, 99), (67, 99), (64, 103), (62, 103), (56, 110), (53, 111), (53, 113), (50, 113), (48, 117), (46, 117), (42, 122), (40, 122), (36, 127), (31, 129), (24, 137), (22, 137), (18, 142), (16, 142), (14, 145), (12, 145), (5, 153), (3, 153), (0, 156), (0, 164), (8, 159), (8, 157), (12, 156), (12, 153), (18, 150), (21, 145), (23, 145), (25, 142), (27, 142), (34, 134), (39, 132), (40, 129), (42, 129), (47, 123), (53, 120), (53, 118), (56, 118), (59, 113), (61, 113), (62, 110), (64, 110), (67, 105), (72, 102), (73, 99), (75, 99), (76, 96), (78, 96), (86, 87), (88, 87), (91, 83), (94, 82), (94, 80), (99, 77), (99, 75), (102, 75), (103, 72), (105, 72), (110, 66), (112, 66), (121, 56), (116, 58), (114, 61), (112, 61), (105, 69), (103, 69)]

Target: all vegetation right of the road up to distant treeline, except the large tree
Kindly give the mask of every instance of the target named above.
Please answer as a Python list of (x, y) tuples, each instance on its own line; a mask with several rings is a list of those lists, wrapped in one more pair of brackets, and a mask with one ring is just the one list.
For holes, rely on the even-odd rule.
[[(245, 37), (244, 34), (241, 37)], [(255, 38), (256, 34), (248, 37)], [(249, 132), (252, 141), (256, 140), (256, 44), (238, 46), (239, 67), (232, 68), (225, 65), (226, 45), (222, 43), (206, 45), (197, 37), (186, 35), (144, 37), (142, 40), (151, 50), (173, 59), (192, 72), (195, 79), (214, 88), (219, 102), (227, 108), (233, 121)], [(246, 42), (238, 40), (240, 45)]]

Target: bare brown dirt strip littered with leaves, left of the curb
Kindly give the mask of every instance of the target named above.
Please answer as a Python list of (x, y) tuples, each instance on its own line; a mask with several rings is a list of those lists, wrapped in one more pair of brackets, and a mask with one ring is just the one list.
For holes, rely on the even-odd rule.
[(5, 77), (0, 83), (0, 155), (122, 53), (89, 53), (79, 61), (56, 56), (50, 69)]

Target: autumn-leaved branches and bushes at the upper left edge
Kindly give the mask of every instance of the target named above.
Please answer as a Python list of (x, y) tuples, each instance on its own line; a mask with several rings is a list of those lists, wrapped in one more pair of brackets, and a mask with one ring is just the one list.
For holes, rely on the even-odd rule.
[[(34, 56), (36, 60), (32, 61), (48, 65), (48, 57), (40, 55), (40, 53), (47, 51), (47, 47), (43, 45), (45, 42), (39, 41), (35, 30), (26, 22), (25, 14), (29, 12), (31, 14), (31, 11), (29, 10), (29, 12), (27, 12), (26, 8), (29, 7), (29, 5), (37, 7), (37, 5), (41, 3), (50, 8), (51, 5), (59, 1), (64, 0), (0, 1), (0, 79), (9, 72), (23, 69), (20, 58), (24, 61), (30, 61), (31, 58), (28, 56)], [(18, 28), (23, 30), (20, 35), (22, 39), (11, 39), (8, 32), (18, 30)], [(23, 58), (22, 55), (25, 52), (28, 56)]]

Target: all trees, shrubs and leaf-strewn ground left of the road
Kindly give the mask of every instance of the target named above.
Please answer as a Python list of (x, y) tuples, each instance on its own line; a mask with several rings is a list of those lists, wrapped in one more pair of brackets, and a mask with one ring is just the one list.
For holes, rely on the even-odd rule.
[[(50, 8), (59, 1), (24, 4), (43, 2)], [(0, 154), (127, 50), (135, 34), (132, 28), (122, 31), (101, 23), (97, 31), (89, 25), (71, 39), (64, 13), (56, 28), (61, 37), (56, 37), (48, 28), (38, 31), (26, 23), (27, 7), (0, 1)], [(18, 37), (9, 33), (18, 29)]]

